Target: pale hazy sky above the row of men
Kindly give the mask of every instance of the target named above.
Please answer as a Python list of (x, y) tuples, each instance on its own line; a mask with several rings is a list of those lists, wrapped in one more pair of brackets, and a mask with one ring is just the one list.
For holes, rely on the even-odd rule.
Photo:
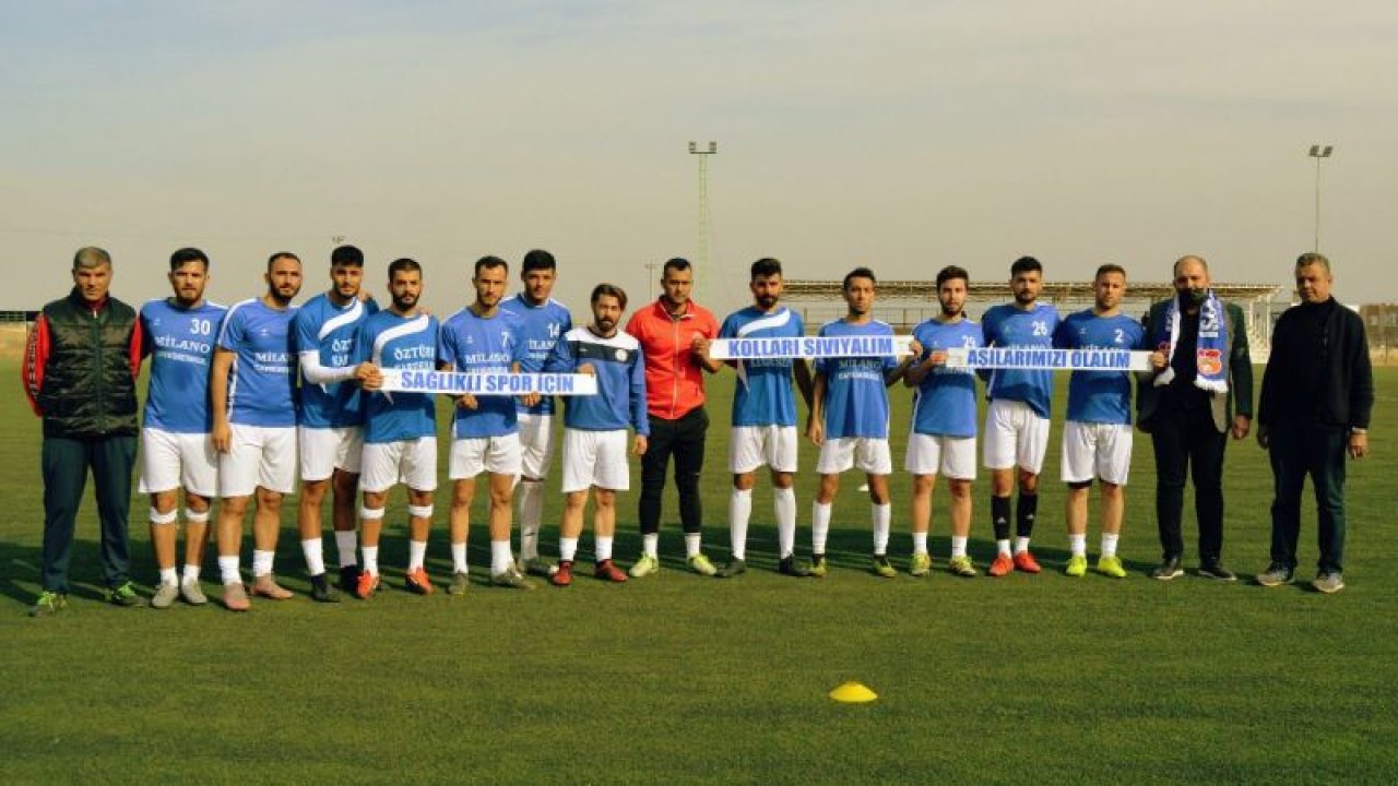
[[(1316, 232), (1345, 302), (1398, 301), (1398, 4), (1293, 0), (0, 0), (0, 308), (70, 287), (106, 248), (113, 292), (263, 291), (267, 256), (329, 283), (334, 238), (471, 299), (475, 259), (559, 260), (575, 313), (600, 281), (712, 250), (698, 296), (788, 278), (1048, 280), (1104, 262), (1165, 281), (1286, 284)], [(513, 274), (513, 269), (512, 269)]]

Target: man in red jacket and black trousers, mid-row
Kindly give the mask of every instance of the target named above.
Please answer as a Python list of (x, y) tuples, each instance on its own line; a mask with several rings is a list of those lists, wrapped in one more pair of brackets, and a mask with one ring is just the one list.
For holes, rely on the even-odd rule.
[(660, 569), (660, 501), (671, 455), (689, 569), (705, 576), (717, 572), (700, 551), (699, 474), (709, 431), (700, 369), (713, 373), (720, 364), (705, 359), (695, 345), (713, 340), (719, 322), (709, 309), (689, 299), (693, 281), (689, 262), (671, 259), (661, 270), (660, 299), (637, 309), (626, 323), (626, 333), (640, 343), (646, 361), (646, 411), (650, 417), (650, 445), (640, 459), (642, 555), (630, 568), (637, 579)]

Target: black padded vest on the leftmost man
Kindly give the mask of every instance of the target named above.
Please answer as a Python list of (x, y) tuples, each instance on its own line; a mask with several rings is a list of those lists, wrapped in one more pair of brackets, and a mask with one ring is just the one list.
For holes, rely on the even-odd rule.
[(131, 337), (136, 310), (108, 298), (96, 316), (74, 290), (43, 306), (49, 362), (39, 406), (45, 436), (137, 434)]

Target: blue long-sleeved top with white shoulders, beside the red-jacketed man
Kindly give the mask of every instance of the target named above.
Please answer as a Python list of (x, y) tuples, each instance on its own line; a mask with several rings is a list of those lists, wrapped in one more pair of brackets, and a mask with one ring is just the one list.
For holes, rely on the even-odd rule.
[(591, 365), (597, 375), (596, 396), (569, 396), (563, 403), (563, 425), (580, 431), (635, 428), (650, 434), (646, 415), (646, 361), (640, 343), (625, 330), (603, 338), (587, 327), (575, 327), (559, 338), (544, 362), (548, 373), (576, 373)]

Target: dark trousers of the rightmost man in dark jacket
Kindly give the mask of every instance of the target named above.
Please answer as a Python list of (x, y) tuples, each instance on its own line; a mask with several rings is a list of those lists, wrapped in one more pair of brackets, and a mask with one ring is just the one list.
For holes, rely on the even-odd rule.
[(1316, 491), (1316, 523), (1321, 573), (1341, 572), (1345, 561), (1345, 457), (1349, 436), (1342, 428), (1310, 424), (1279, 425), (1269, 432), (1268, 455), (1276, 496), (1272, 499), (1272, 562), (1296, 568), (1302, 530), (1302, 490), (1310, 476)]

